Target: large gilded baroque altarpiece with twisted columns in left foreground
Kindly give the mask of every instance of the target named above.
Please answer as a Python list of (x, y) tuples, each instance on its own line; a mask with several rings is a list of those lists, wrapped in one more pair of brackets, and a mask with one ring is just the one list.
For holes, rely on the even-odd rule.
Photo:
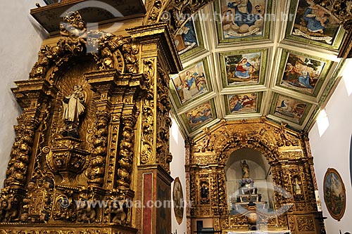
[(122, 37), (87, 32), (78, 12), (63, 18), (57, 44), (12, 89), (23, 114), (1, 233), (171, 232), (170, 207), (145, 206), (171, 198), (168, 74), (181, 63), (169, 31)]

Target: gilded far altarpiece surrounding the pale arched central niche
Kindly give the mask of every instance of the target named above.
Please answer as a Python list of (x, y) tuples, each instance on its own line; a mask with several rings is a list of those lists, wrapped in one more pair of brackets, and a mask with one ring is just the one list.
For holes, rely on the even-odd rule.
[[(274, 213), (246, 207), (230, 215), (225, 167), (232, 152), (252, 148), (261, 152), (271, 167), (274, 185)], [(316, 233), (317, 190), (308, 138), (262, 119), (226, 122), (187, 142), (187, 209), (191, 220), (213, 219), (215, 230), (290, 230), (291, 233)], [(300, 191), (294, 186), (301, 181)], [(203, 193), (202, 187), (208, 188)], [(194, 223), (189, 222), (189, 229)], [(257, 229), (258, 230), (258, 229)]]

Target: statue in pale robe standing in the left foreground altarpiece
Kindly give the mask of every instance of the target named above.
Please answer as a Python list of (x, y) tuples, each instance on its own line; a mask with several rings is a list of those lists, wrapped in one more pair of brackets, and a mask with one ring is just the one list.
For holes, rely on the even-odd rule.
[(80, 116), (84, 112), (84, 95), (82, 85), (75, 85), (73, 93), (63, 98), (63, 121), (66, 136), (78, 137)]

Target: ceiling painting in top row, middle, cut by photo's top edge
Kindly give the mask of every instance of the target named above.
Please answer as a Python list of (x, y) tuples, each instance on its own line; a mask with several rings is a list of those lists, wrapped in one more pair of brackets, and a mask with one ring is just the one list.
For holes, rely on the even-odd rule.
[(274, 1), (220, 0), (215, 3), (220, 43), (268, 39)]

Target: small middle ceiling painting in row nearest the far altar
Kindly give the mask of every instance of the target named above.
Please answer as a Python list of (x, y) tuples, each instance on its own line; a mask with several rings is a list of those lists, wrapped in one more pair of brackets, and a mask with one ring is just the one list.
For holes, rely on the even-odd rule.
[(262, 97), (263, 92), (228, 94), (224, 96), (225, 103), (227, 103), (226, 113), (230, 115), (260, 112)]

